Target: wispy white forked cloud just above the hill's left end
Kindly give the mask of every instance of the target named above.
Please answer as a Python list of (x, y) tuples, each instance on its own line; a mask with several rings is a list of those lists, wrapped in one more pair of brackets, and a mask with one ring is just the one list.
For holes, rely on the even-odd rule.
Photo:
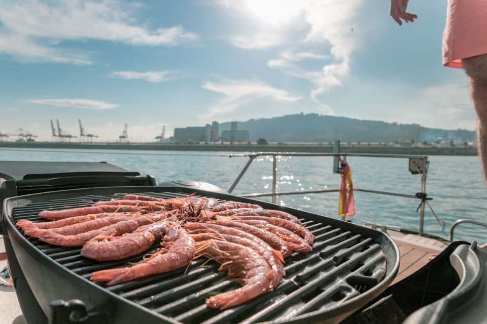
[(296, 102), (302, 97), (293, 97), (284, 90), (275, 89), (258, 80), (221, 80), (219, 83), (205, 82), (203, 89), (225, 95), (212, 105), (207, 113), (198, 116), (200, 120), (221, 118), (253, 101), (267, 99), (284, 103)]

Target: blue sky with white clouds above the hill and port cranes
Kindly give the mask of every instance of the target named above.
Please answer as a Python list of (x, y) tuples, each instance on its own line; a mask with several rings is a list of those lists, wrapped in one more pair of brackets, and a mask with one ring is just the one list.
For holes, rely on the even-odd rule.
[(153, 141), (166, 127), (294, 113), (475, 129), (442, 66), (446, 1), (0, 0), (0, 133)]

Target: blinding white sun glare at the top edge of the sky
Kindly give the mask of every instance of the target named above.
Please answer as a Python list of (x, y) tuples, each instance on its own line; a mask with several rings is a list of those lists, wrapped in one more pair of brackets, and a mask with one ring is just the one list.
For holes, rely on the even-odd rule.
[(253, 16), (272, 25), (286, 23), (301, 9), (299, 1), (246, 0), (245, 4)]

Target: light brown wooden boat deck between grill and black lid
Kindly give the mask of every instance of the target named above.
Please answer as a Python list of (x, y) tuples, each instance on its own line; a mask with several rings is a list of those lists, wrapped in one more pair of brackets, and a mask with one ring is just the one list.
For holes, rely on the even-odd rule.
[(447, 247), (447, 244), (434, 238), (404, 234), (391, 229), (388, 229), (387, 233), (394, 239), (401, 254), (399, 271), (392, 284), (423, 267), (429, 262), (431, 254), (440, 253)]

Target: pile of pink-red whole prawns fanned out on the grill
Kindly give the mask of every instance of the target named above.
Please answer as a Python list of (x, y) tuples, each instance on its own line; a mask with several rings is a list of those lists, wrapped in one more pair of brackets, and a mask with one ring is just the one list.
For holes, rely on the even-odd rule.
[(226, 309), (276, 288), (286, 274), (284, 258), (307, 253), (315, 236), (298, 218), (258, 205), (213, 198), (170, 199), (128, 194), (89, 207), (46, 210), (50, 222), (20, 220), (26, 235), (52, 245), (82, 247), (81, 255), (97, 261), (122, 260), (161, 248), (130, 267), (100, 270), (91, 280), (107, 286), (188, 266), (206, 257), (219, 270), (238, 277), (242, 287), (206, 299)]

